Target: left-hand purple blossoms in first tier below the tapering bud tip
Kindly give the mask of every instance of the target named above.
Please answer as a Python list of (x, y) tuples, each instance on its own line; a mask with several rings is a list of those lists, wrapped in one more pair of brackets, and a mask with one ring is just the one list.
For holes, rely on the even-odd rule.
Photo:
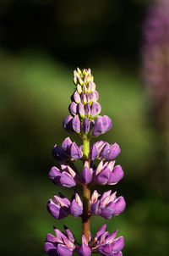
[(57, 144), (53, 147), (52, 155), (60, 162), (82, 158), (79, 147), (69, 137), (63, 141), (62, 147), (58, 147)]

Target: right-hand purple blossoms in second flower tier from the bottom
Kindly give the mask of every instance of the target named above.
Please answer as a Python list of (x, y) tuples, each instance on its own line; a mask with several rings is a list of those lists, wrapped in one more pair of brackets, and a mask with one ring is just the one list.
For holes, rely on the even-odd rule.
[(104, 192), (101, 196), (97, 191), (94, 191), (90, 199), (90, 213), (101, 215), (106, 219), (118, 215), (125, 209), (126, 203), (123, 197), (116, 197), (116, 193), (111, 194), (111, 190)]

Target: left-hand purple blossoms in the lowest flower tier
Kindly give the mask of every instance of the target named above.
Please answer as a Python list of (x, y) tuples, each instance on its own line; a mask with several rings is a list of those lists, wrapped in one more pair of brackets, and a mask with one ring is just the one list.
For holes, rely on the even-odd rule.
[(49, 256), (71, 256), (75, 248), (74, 242), (72, 241), (73, 239), (70, 239), (70, 233), (71, 237), (74, 237), (72, 232), (65, 229), (67, 234), (64, 235), (63, 232), (56, 228), (54, 228), (54, 231), (56, 237), (49, 233), (46, 235), (45, 252), (49, 254)]

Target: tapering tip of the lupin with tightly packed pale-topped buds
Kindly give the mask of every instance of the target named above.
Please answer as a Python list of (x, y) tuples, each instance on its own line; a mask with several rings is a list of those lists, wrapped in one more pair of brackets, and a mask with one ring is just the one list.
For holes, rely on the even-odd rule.
[(92, 130), (92, 136), (99, 136), (110, 130), (112, 120), (106, 115), (99, 115), (101, 113), (101, 104), (97, 103), (99, 93), (95, 91), (90, 69), (74, 70), (74, 83), (76, 90), (71, 97), (72, 103), (69, 105), (70, 115), (63, 121), (65, 130), (75, 131), (82, 135)]

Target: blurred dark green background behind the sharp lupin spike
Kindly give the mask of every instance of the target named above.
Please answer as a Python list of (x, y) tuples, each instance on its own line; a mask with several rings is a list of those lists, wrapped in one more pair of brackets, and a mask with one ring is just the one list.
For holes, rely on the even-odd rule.
[(92, 235), (106, 223), (108, 231), (118, 229), (125, 238), (123, 255), (169, 254), (166, 142), (154, 125), (140, 75), (141, 30), (149, 3), (0, 2), (2, 255), (45, 255), (44, 240), (53, 225), (61, 230), (68, 225), (80, 237), (78, 218), (54, 220), (46, 210), (53, 193), (70, 195), (49, 181), (48, 171), (57, 164), (53, 145), (68, 136), (62, 122), (77, 66), (90, 67), (94, 75), (101, 114), (113, 122), (101, 139), (120, 145), (117, 163), (125, 172), (119, 184), (96, 187), (117, 190), (127, 208), (112, 220), (93, 217)]

